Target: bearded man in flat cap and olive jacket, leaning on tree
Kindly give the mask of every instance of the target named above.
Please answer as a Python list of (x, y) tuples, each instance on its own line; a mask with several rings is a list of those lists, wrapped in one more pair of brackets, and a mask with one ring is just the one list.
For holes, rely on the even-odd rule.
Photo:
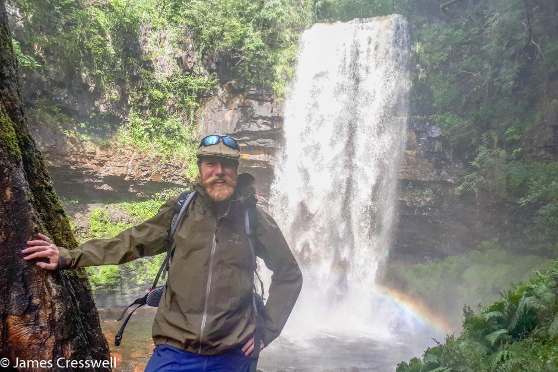
[[(240, 151), (232, 137), (208, 136), (199, 146), (197, 194), (173, 239), (169, 277), (153, 323), (156, 348), (146, 371), (247, 371), (254, 349), (253, 265), (244, 227), (247, 206), (236, 188)], [(74, 250), (45, 235), (23, 254), (44, 269), (123, 264), (166, 251), (172, 206), (119, 233)], [(281, 332), (302, 286), (302, 275), (273, 218), (257, 207), (257, 256), (273, 271), (260, 348)]]

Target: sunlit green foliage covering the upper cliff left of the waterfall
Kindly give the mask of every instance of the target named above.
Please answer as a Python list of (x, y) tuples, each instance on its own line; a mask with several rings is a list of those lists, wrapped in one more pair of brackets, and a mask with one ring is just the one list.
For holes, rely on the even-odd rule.
[[(312, 20), (309, 0), (18, 4), (20, 65), (27, 80), (53, 84), (48, 97), (37, 91), (31, 122), (57, 126), (78, 141), (108, 146), (116, 136), (119, 146), (185, 160), (190, 178), (197, 173), (195, 110), (218, 83), (204, 64), (218, 58), (234, 79), (269, 85), (281, 99), (294, 75), (298, 37)], [(194, 59), (189, 71), (173, 57), (185, 45)], [(61, 77), (90, 85), (104, 107), (127, 109), (127, 120), (110, 110), (79, 122), (65, 116), (59, 102), (73, 97), (56, 83)]]

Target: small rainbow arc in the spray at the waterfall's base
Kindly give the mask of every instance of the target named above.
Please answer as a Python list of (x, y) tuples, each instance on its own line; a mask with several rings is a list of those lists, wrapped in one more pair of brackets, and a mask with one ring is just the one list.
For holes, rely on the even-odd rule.
[(378, 294), (384, 297), (384, 299), (395, 302), (403, 311), (409, 313), (413, 318), (433, 327), (442, 335), (448, 335), (456, 331), (455, 327), (450, 325), (448, 319), (432, 311), (432, 309), (419, 299), (413, 298), (400, 290), (384, 287), (383, 285), (376, 285), (376, 288), (378, 289)]

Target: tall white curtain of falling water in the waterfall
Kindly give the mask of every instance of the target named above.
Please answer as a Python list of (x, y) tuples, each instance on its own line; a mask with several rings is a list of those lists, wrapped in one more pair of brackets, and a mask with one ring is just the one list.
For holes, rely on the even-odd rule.
[(374, 282), (396, 217), (406, 30), (394, 15), (302, 35), (270, 200), (304, 275), (290, 332), (386, 334)]

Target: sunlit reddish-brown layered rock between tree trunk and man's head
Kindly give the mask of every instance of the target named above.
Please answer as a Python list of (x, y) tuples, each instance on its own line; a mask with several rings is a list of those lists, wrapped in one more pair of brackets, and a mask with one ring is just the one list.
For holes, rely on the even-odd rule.
[[(186, 164), (162, 161), (132, 146), (99, 146), (64, 136), (49, 126), (30, 128), (58, 193), (84, 203), (151, 197), (162, 189), (186, 188)], [(79, 187), (76, 187), (79, 185)]]

